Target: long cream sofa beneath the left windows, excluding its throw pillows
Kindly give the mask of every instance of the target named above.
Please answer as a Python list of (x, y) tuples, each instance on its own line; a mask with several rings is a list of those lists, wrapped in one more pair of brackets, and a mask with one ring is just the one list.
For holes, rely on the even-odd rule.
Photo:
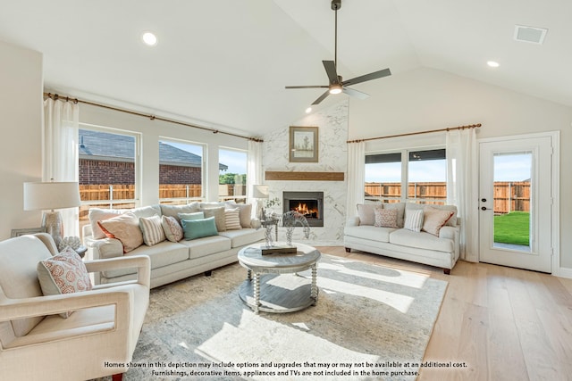
[[(196, 212), (201, 208), (226, 206), (235, 207), (240, 204), (229, 203), (190, 203), (186, 205), (156, 204), (130, 210), (137, 217), (151, 217), (154, 215), (168, 215), (175, 217), (180, 212)], [(244, 205), (241, 205), (244, 206)], [(240, 228), (237, 230), (219, 231), (215, 236), (206, 236), (193, 240), (171, 242), (165, 240), (158, 244), (142, 244), (138, 248), (123, 253), (123, 245), (118, 239), (94, 236), (97, 214), (90, 210), (91, 223), (83, 227), (83, 241), (88, 247), (88, 258), (102, 259), (115, 258), (131, 255), (147, 255), (151, 260), (151, 287), (165, 284), (190, 277), (200, 273), (209, 274), (212, 269), (222, 267), (237, 261), (239, 250), (248, 245), (264, 239), (264, 229)], [(97, 210), (101, 211), (101, 210)], [(123, 213), (126, 211), (112, 211)], [(248, 213), (248, 226), (250, 223), (250, 209)], [(243, 216), (241, 216), (243, 217)], [(243, 224), (246, 226), (246, 224)], [(95, 279), (96, 284), (105, 284), (129, 280), (135, 276), (130, 269), (103, 271)]]

